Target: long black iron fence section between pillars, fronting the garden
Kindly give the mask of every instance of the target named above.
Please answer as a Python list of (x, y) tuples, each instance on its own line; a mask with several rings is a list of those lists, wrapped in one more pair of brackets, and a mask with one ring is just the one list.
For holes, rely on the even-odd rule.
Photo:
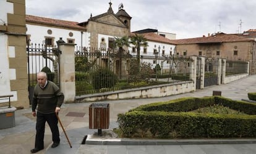
[(98, 49), (75, 52), (76, 95), (189, 80), (191, 62), (186, 57), (154, 53)]

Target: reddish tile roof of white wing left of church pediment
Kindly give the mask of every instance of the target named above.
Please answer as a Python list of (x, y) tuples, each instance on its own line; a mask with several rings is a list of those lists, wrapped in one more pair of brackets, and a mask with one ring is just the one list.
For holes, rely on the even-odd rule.
[(38, 23), (43, 25), (61, 26), (66, 28), (74, 28), (78, 30), (86, 30), (85, 27), (77, 25), (78, 22), (70, 22), (66, 20), (58, 20), (54, 18), (37, 17), (33, 15), (26, 15), (26, 22)]

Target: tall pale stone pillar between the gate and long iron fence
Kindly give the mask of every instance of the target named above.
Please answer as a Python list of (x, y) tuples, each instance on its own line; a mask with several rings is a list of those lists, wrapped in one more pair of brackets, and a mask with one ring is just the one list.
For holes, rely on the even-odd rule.
[(64, 102), (75, 101), (75, 44), (60, 43), (59, 73), (61, 91), (64, 93)]

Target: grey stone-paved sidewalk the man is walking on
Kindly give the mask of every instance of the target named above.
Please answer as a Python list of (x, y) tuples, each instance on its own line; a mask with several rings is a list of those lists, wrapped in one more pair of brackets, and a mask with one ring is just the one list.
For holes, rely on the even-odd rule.
[[(114, 137), (90, 138), (97, 129), (88, 129), (88, 110), (91, 103), (110, 104), (109, 130), (117, 128), (117, 114), (125, 113), (139, 105), (177, 99), (180, 97), (203, 97), (212, 95), (213, 91), (221, 91), (223, 97), (234, 100), (248, 99), (248, 92), (256, 92), (256, 75), (252, 75), (229, 84), (210, 86), (186, 94), (153, 99), (108, 100), (104, 102), (63, 104), (59, 118), (72, 144), (69, 147), (66, 137), (61, 133), (59, 147), (51, 148), (51, 131), (46, 124), (45, 149), (38, 153), (256, 153), (256, 139), (205, 139), (205, 140), (118, 140)], [(31, 109), (15, 111), (14, 128), (0, 129), (0, 153), (30, 153), (35, 144), (35, 118)], [(103, 132), (105, 130), (103, 129)], [(91, 144), (82, 144), (83, 137), (88, 135)], [(88, 142), (89, 143), (89, 142)], [(108, 145), (106, 145), (108, 144)], [(138, 146), (140, 145), (140, 146)]]

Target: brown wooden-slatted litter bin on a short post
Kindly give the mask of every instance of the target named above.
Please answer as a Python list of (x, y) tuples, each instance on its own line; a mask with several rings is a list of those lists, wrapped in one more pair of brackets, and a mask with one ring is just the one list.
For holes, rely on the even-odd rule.
[(109, 128), (109, 103), (92, 103), (89, 106), (89, 128), (98, 129), (101, 136), (101, 129)]

